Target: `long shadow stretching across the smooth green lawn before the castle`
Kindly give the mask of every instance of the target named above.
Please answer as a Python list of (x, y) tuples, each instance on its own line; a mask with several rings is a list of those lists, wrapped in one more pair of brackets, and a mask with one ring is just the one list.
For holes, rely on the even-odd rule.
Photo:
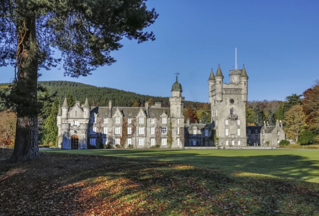
[(306, 156), (294, 154), (220, 156), (211, 153), (189, 153), (185, 150), (60, 150), (59, 152), (169, 161), (230, 172), (249, 172), (319, 182), (319, 160), (310, 160)]

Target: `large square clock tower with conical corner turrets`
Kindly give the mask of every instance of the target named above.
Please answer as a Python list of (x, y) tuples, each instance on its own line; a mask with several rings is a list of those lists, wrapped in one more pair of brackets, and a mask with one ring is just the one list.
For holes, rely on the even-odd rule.
[(225, 148), (247, 146), (246, 102), (248, 76), (242, 70), (229, 71), (230, 83), (223, 83), (223, 74), (218, 66), (216, 75), (208, 79), (211, 121), (215, 126), (218, 145)]

